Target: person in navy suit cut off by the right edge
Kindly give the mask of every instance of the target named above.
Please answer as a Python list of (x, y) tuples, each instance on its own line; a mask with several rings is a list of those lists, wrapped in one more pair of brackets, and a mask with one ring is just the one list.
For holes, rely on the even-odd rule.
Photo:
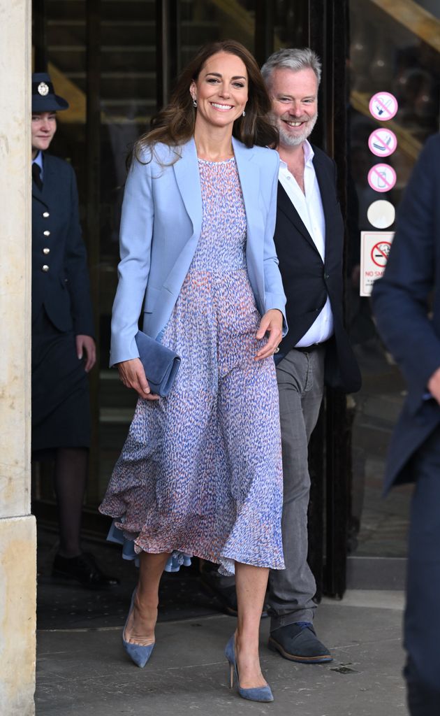
[(399, 207), (378, 330), (408, 395), (388, 452), (385, 491), (416, 483), (411, 503), (404, 674), (411, 716), (440, 714), (440, 135), (421, 151)]

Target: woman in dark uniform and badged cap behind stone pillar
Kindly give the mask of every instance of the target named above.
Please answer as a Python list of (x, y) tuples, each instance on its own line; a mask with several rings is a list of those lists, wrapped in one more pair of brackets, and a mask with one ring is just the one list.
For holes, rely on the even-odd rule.
[(87, 256), (72, 167), (46, 153), (66, 100), (32, 75), (32, 459), (54, 457), (59, 551), (52, 576), (117, 584), (80, 544), (90, 442), (87, 373), (96, 349)]

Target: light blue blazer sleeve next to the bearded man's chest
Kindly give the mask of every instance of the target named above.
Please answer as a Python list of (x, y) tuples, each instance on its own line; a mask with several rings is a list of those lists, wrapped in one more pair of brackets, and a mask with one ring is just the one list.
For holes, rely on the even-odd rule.
[(270, 309), (278, 309), (281, 311), (283, 314), (283, 336), (285, 336), (288, 331), (287, 319), (285, 317), (286, 298), (280, 269), (278, 268), (278, 256), (275, 250), (275, 242), (273, 240), (277, 211), (278, 170), (280, 166), (280, 158), (278, 152), (275, 150), (270, 150), (270, 152), (275, 156), (272, 166), (272, 181), (270, 183), (269, 205), (264, 236), (264, 308), (265, 311), (269, 311)]

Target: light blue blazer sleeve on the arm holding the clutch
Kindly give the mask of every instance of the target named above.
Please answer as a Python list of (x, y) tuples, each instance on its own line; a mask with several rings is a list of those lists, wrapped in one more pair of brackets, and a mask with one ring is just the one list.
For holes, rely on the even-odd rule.
[[(155, 217), (152, 160), (133, 158), (122, 202), (118, 285), (112, 310), (110, 366), (139, 357), (135, 335), (150, 274)], [(145, 160), (145, 156), (142, 157)]]

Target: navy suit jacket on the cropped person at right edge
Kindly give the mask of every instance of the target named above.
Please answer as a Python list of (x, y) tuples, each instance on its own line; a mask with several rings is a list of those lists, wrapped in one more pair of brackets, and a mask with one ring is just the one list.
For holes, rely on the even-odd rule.
[(440, 367), (440, 135), (426, 142), (411, 174), (373, 309), (408, 384), (388, 452), (388, 490), (413, 479), (411, 455), (440, 422), (439, 405), (426, 400), (426, 384)]

